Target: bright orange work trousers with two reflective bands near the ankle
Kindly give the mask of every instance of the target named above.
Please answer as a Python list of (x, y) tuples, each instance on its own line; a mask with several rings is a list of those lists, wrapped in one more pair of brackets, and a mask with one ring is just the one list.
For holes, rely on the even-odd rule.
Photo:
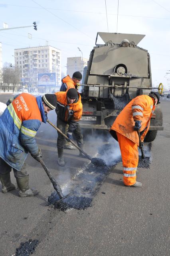
[(136, 183), (136, 169), (138, 166), (138, 146), (127, 137), (116, 132), (123, 162), (123, 182), (130, 186)]

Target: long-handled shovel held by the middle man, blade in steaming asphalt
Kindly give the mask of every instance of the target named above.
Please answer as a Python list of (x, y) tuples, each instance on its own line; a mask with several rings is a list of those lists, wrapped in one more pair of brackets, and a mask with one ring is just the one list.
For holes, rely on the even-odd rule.
[(85, 157), (87, 159), (89, 159), (91, 161), (91, 163), (93, 163), (93, 165), (97, 165), (97, 166), (106, 166), (106, 163), (103, 159), (97, 158), (97, 157), (91, 157), (89, 156), (87, 153), (85, 153), (85, 151), (83, 151), (79, 146), (77, 146), (77, 144), (74, 143), (74, 141), (72, 141), (71, 139), (69, 139), (57, 126), (53, 125), (53, 123), (51, 123), (48, 119), (47, 122), (53, 126), (60, 134), (62, 134), (65, 139), (67, 139), (67, 141), (70, 141), (75, 147), (77, 147), (77, 149), (79, 149), (79, 151), (81, 151)]

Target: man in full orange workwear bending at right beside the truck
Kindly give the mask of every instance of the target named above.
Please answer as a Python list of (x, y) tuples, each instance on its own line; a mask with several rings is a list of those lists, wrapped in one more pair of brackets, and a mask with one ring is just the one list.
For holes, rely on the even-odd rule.
[(139, 146), (139, 137), (136, 131), (140, 131), (140, 138), (143, 142), (149, 130), (150, 119), (159, 100), (160, 94), (152, 91), (149, 96), (140, 95), (135, 97), (117, 116), (110, 129), (111, 135), (119, 142), (121, 149), (125, 186), (142, 187), (142, 183), (136, 181)]

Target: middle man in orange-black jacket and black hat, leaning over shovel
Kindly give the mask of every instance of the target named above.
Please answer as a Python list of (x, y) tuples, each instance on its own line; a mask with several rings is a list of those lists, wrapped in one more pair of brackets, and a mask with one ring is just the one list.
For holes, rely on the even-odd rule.
[[(75, 88), (70, 88), (68, 91), (58, 91), (57, 107), (55, 112), (57, 114), (57, 127), (65, 133), (65, 127), (68, 125), (67, 137), (72, 138), (72, 133), (76, 137), (78, 146), (83, 149), (84, 141), (79, 125), (79, 120), (83, 112), (83, 105), (81, 103), (81, 96)], [(58, 150), (58, 164), (64, 166), (63, 159), (64, 137), (58, 132), (57, 150)], [(80, 153), (81, 155), (81, 153)]]

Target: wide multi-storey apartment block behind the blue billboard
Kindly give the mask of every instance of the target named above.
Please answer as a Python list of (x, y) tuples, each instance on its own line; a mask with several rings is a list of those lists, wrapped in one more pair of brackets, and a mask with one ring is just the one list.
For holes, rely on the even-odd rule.
[(55, 86), (61, 85), (61, 51), (52, 46), (14, 50), (15, 66), (22, 71), (26, 87), (38, 86), (38, 74), (55, 73)]

